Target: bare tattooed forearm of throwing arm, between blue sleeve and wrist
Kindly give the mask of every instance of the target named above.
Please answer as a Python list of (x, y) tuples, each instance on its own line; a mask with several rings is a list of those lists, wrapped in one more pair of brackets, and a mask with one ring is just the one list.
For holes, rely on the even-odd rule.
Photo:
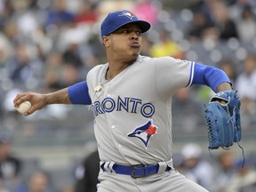
[(68, 88), (62, 89), (58, 92), (51, 92), (44, 95), (47, 105), (50, 104), (71, 104), (68, 97)]

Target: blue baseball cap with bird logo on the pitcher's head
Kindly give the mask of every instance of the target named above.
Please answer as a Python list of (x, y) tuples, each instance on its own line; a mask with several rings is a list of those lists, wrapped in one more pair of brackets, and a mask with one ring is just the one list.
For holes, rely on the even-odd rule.
[(141, 33), (148, 31), (150, 23), (145, 20), (139, 20), (132, 12), (124, 10), (118, 12), (109, 12), (105, 20), (102, 21), (100, 30), (101, 37), (108, 36), (116, 29), (123, 27), (128, 23), (137, 23), (140, 26)]

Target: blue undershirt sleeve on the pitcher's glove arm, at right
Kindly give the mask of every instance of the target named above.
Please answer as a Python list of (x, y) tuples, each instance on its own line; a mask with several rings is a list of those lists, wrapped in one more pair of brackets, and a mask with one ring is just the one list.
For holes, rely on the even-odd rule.
[(226, 73), (220, 68), (215, 68), (212, 66), (206, 66), (202, 64), (195, 63), (192, 84), (204, 84), (212, 88), (212, 91), (216, 92), (219, 84), (228, 82), (231, 84)]

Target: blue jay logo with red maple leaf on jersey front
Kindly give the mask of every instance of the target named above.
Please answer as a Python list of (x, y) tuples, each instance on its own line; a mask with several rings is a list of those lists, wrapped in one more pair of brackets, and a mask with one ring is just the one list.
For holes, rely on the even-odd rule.
[(127, 137), (138, 138), (146, 148), (148, 148), (148, 143), (150, 138), (156, 134), (156, 125), (152, 124), (153, 120), (150, 119), (146, 124), (142, 124), (136, 127), (132, 132), (127, 134)]

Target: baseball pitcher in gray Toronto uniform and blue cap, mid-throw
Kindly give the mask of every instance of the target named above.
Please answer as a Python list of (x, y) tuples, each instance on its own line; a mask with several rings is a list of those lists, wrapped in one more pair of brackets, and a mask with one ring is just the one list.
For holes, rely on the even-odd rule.
[[(99, 192), (205, 192), (172, 165), (172, 96), (193, 84), (219, 92), (207, 113), (222, 108), (222, 114), (228, 114), (231, 120), (223, 127), (232, 129), (232, 143), (235, 135), (235, 141), (241, 138), (239, 100), (228, 76), (218, 68), (172, 57), (141, 56), (141, 33), (149, 28), (132, 12), (110, 12), (100, 28), (107, 63), (92, 68), (86, 81), (58, 92), (20, 93), (14, 105), (30, 101), (25, 116), (49, 104), (91, 106), (100, 155)], [(207, 119), (214, 126), (211, 117)], [(222, 147), (225, 140), (211, 132), (210, 147)]]

